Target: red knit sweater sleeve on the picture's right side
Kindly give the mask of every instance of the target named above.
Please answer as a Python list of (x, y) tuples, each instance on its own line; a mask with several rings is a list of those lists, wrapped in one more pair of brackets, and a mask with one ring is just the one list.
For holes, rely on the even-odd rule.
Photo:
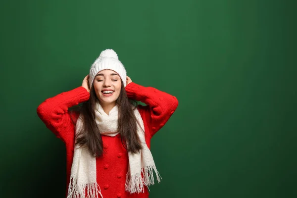
[(164, 126), (178, 106), (176, 97), (152, 87), (143, 87), (132, 82), (125, 87), (125, 90), (129, 99), (147, 104), (138, 107), (145, 114), (151, 137)]

